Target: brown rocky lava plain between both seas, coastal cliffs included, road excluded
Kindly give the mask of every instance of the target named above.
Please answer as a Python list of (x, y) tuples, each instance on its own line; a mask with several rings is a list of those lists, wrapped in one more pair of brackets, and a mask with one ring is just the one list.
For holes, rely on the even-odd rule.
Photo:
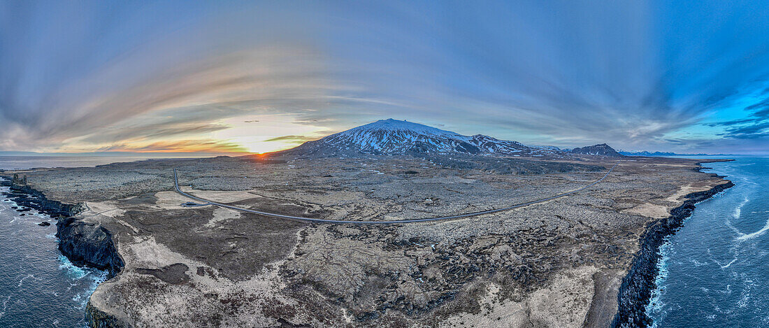
[(233, 206), (411, 219), (578, 189), (618, 162), (457, 155), (276, 154), (2, 175), (18, 174), (19, 195), (36, 195), (31, 206), (61, 211), (63, 253), (114, 271), (88, 304), (93, 326), (568, 327), (610, 326), (615, 317), (620, 326), (638, 317), (628, 304), (643, 298), (644, 263), (654, 262), (654, 252), (644, 256), (653, 250), (650, 227), (691, 209), (687, 195), (727, 183), (698, 172), (694, 160), (634, 157), (567, 197), (401, 225), (309, 224), (185, 207), (190, 199), (173, 191), (178, 169), (185, 192)]

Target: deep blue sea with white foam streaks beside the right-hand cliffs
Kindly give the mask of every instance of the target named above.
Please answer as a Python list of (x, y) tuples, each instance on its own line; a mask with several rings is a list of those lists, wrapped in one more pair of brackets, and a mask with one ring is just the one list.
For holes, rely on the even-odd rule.
[(706, 163), (734, 187), (697, 205), (661, 247), (657, 327), (769, 326), (769, 158)]

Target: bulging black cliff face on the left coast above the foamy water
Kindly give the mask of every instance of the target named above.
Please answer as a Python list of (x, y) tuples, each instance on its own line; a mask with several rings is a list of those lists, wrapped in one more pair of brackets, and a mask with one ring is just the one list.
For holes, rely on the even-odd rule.
[(110, 276), (115, 276), (123, 267), (112, 233), (98, 224), (75, 217), (59, 219), (56, 236), (58, 249), (75, 265), (107, 269)]

